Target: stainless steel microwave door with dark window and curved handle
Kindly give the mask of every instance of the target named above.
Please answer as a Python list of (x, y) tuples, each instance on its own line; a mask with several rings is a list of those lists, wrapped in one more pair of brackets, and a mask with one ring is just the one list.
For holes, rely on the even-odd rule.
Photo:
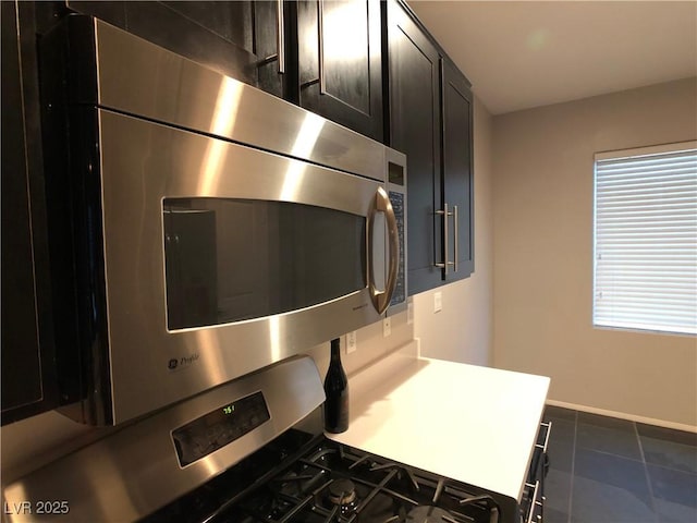
[(388, 307), (382, 183), (103, 109), (99, 126), (114, 423)]

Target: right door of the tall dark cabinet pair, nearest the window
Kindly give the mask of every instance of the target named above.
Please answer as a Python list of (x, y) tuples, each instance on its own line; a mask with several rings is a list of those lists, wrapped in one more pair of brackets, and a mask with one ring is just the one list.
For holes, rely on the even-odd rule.
[(474, 270), (472, 92), (462, 73), (441, 60), (442, 183), (448, 204), (448, 230), (443, 230), (448, 267), (445, 280), (466, 278)]

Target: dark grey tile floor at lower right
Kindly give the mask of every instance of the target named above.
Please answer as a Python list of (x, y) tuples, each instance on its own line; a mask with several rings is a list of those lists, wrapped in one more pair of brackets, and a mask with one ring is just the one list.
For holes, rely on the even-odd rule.
[(696, 523), (697, 434), (548, 406), (545, 523)]

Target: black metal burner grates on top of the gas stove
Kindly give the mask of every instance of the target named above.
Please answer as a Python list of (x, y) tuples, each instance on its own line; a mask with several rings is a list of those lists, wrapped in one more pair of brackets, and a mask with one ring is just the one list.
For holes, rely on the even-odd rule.
[(489, 496), (456, 482), (322, 440), (217, 521), (489, 523), (497, 513)]

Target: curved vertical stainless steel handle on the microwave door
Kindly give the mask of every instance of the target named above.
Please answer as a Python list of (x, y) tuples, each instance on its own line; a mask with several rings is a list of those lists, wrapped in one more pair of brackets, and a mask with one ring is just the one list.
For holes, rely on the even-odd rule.
[(377, 212), (384, 212), (384, 217), (388, 226), (388, 243), (390, 250), (390, 262), (389, 262), (389, 271), (388, 271), (388, 281), (386, 283), (384, 290), (380, 291), (375, 287), (375, 278), (374, 278), (374, 260), (372, 260), (372, 250), (368, 250), (368, 285), (370, 290), (370, 299), (372, 300), (372, 305), (375, 306), (378, 314), (382, 314), (387, 311), (388, 305), (390, 305), (390, 300), (392, 300), (392, 294), (394, 293), (394, 288), (396, 287), (396, 277), (399, 271), (399, 263), (400, 263), (400, 234), (396, 224), (396, 218), (394, 216), (394, 209), (392, 208), (392, 203), (390, 202), (390, 196), (382, 187), (378, 187), (378, 191), (375, 195), (374, 207), (370, 210), (370, 215), (368, 217), (368, 238), (372, 238), (375, 231), (372, 231), (375, 215)]

